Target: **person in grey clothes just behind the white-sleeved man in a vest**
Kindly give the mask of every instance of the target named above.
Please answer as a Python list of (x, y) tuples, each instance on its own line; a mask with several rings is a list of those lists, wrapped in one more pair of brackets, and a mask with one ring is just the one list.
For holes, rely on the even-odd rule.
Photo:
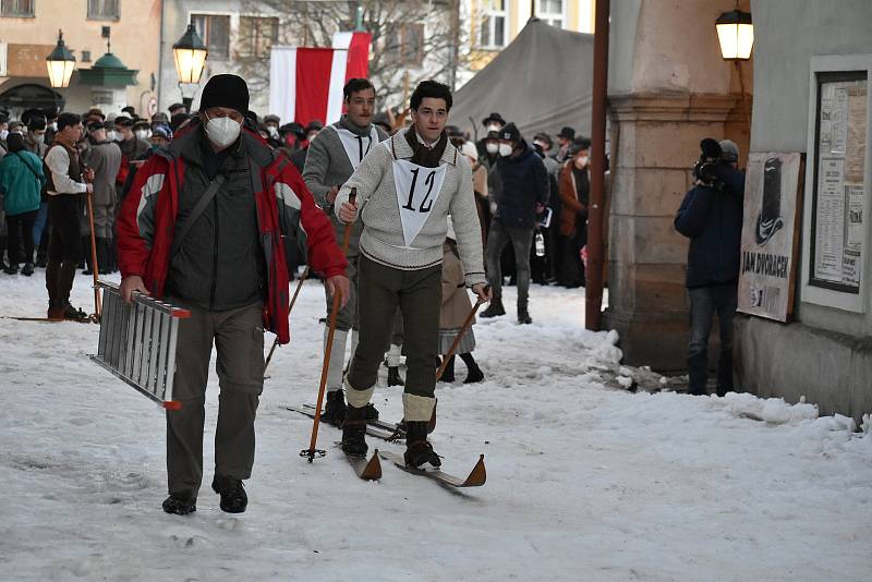
[[(116, 177), (121, 167), (121, 148), (110, 142), (106, 135), (106, 123), (95, 119), (87, 125), (88, 147), (82, 154), (82, 160), (94, 170), (94, 239), (97, 246), (97, 265), (101, 275), (112, 272), (112, 230), (116, 222)], [(90, 223), (85, 221), (84, 231), (90, 234)], [(90, 238), (86, 239), (90, 245)], [(86, 246), (87, 247), (87, 246)], [(85, 253), (87, 269), (85, 275), (94, 272), (90, 253)]]

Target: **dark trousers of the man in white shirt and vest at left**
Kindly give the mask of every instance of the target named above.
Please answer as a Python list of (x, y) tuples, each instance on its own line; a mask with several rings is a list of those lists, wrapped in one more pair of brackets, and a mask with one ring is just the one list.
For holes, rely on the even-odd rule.
[(46, 289), (51, 307), (63, 307), (70, 302), (75, 267), (82, 256), (82, 238), (78, 215), (82, 213), (80, 194), (58, 194), (48, 202), (51, 221), (51, 240), (46, 266)]

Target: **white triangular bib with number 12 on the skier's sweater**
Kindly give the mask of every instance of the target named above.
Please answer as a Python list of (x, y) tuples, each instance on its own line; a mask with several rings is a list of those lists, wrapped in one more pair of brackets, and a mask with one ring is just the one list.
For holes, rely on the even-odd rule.
[(397, 186), (402, 237), (410, 248), (439, 199), (446, 169), (447, 166), (424, 168), (409, 160), (393, 160), (393, 183)]

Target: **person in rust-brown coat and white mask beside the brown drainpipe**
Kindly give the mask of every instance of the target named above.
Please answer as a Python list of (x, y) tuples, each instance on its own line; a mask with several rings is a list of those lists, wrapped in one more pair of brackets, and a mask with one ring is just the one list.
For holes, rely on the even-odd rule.
[(581, 250), (588, 244), (588, 204), (590, 201), (589, 166), (591, 141), (580, 137), (567, 149), (569, 159), (560, 172), (560, 284), (584, 286)]

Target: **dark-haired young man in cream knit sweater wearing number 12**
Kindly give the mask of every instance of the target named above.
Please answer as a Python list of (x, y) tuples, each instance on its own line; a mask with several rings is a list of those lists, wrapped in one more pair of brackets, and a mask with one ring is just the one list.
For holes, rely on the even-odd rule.
[[(446, 85), (421, 83), (411, 98), (412, 126), (373, 148), (335, 203), (343, 223), (359, 219), (363, 223), (358, 274), (360, 343), (346, 379), (349, 405), (342, 448), (349, 454), (366, 453), (366, 404), (399, 306), (409, 368), (403, 393), (403, 458), (414, 468), (441, 464), (427, 441), (427, 423), (436, 403), (434, 362), (449, 214), (465, 283), (480, 299), (489, 299), (472, 170), (445, 132), (451, 101)], [(349, 201), (352, 189), (358, 193), (355, 203)]]

